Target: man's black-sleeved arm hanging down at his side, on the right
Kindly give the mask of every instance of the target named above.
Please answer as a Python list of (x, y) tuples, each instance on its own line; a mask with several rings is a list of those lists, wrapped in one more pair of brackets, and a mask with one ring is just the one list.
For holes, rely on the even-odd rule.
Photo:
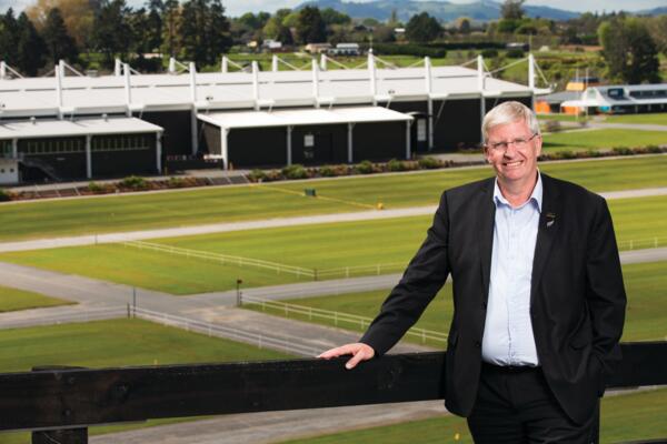
[(626, 293), (611, 214), (598, 198), (586, 252), (586, 297), (593, 321), (593, 353), (607, 367), (620, 360), (618, 341), (625, 321)]

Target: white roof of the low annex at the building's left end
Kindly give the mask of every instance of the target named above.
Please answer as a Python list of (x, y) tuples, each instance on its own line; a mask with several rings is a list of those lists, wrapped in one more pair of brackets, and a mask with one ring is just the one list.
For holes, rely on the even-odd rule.
[(0, 121), (0, 139), (136, 134), (161, 131), (161, 127), (136, 118)]

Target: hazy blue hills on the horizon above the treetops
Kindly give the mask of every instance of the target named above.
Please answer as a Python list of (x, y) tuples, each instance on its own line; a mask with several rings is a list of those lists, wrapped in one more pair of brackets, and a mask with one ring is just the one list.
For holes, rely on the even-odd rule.
[[(491, 0), (479, 0), (474, 3), (450, 3), (448, 1), (415, 1), (415, 0), (375, 0), (365, 3), (341, 0), (309, 0), (301, 3), (297, 9), (305, 6), (315, 6), (320, 9), (332, 8), (345, 12), (352, 18), (372, 18), (385, 21), (396, 10), (399, 20), (407, 21), (416, 13), (428, 12), (440, 21), (454, 21), (459, 17), (469, 17), (477, 21), (489, 21), (500, 18), (500, 3)], [(578, 12), (565, 11), (549, 7), (537, 7), (524, 4), (528, 17), (541, 17), (552, 20), (568, 20), (579, 17)]]

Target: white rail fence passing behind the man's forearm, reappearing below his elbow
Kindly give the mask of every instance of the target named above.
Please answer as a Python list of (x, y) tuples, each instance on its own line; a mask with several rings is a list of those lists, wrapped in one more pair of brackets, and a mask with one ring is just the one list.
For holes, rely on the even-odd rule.
[[(364, 330), (372, 322), (371, 317), (358, 316), (356, 314), (241, 295), (241, 303), (245, 302), (261, 306), (262, 312), (266, 312), (267, 309), (273, 309), (283, 313), (286, 317), (289, 317), (290, 313), (308, 316), (308, 320), (310, 321), (312, 321), (315, 317), (319, 317), (322, 320), (334, 321), (334, 325), (336, 326), (339, 326), (339, 324), (358, 325), (361, 330)], [(426, 341), (436, 341), (442, 343), (447, 342), (447, 334), (426, 329), (412, 327), (406, 333), (406, 335), (420, 339), (422, 344), (426, 343)]]

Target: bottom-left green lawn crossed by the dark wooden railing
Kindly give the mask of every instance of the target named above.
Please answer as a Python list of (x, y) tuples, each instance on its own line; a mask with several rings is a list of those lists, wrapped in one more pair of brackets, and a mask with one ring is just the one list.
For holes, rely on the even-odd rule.
[[(286, 360), (291, 356), (141, 320), (113, 320), (0, 331), (0, 372), (36, 365), (109, 367)], [(170, 418), (92, 427), (91, 434), (185, 421)], [(2, 433), (0, 444), (28, 444), (28, 433)]]

